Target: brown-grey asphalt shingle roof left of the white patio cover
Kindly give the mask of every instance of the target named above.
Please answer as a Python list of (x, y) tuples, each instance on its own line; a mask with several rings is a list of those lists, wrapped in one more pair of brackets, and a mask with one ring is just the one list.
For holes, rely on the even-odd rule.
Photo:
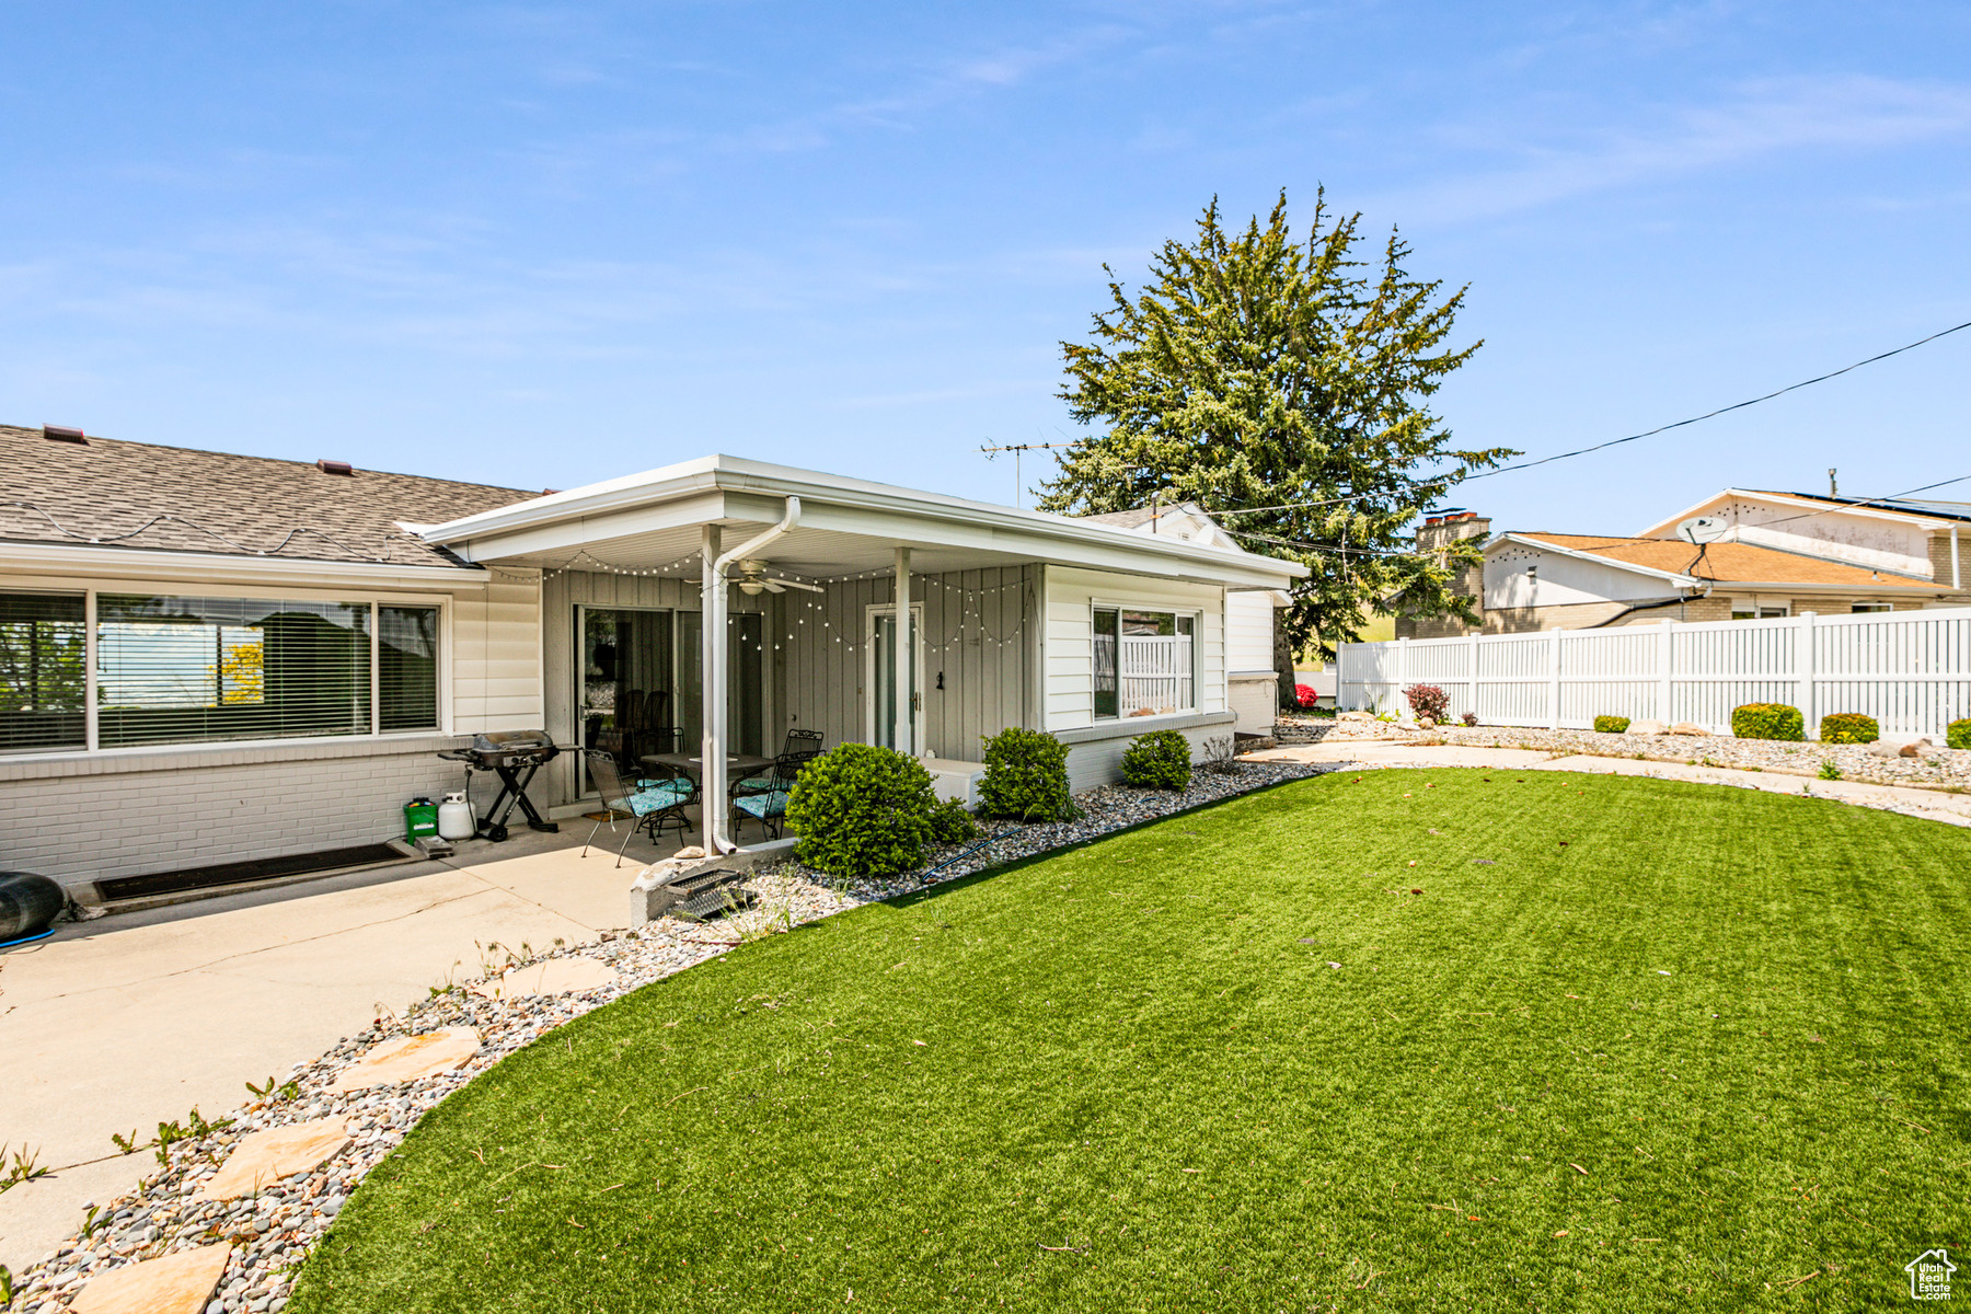
[(14, 542), (459, 565), (398, 522), (438, 524), (534, 496), (538, 489), (367, 469), (329, 475), (311, 461), (95, 435), (65, 443), (0, 426), (0, 540)]

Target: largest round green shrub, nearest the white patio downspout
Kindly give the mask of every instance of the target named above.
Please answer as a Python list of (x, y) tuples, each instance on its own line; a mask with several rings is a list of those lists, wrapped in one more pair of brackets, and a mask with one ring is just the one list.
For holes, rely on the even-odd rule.
[(832, 877), (891, 877), (924, 863), (930, 772), (873, 745), (838, 745), (808, 762), (786, 796), (794, 857)]

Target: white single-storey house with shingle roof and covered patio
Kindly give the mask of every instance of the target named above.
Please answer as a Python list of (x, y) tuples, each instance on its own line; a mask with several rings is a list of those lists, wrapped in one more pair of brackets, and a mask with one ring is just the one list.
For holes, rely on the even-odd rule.
[[(802, 727), (964, 780), (1027, 725), (1088, 788), (1147, 729), (1230, 739), (1252, 599), (1305, 575), (1200, 526), (723, 455), (532, 494), (0, 427), (0, 867), (83, 898), (400, 835), (481, 731), (773, 755)], [(597, 806), (572, 753), (532, 794)]]

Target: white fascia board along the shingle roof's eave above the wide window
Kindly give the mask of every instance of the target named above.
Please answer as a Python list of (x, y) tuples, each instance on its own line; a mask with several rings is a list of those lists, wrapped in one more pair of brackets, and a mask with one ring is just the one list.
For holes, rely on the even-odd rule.
[(481, 591), (487, 571), (475, 565), (388, 565), (306, 558), (240, 558), (217, 552), (150, 552), (67, 544), (0, 544), (0, 573), (156, 579), (164, 583), (268, 583), (298, 587), (400, 587), (445, 593)]

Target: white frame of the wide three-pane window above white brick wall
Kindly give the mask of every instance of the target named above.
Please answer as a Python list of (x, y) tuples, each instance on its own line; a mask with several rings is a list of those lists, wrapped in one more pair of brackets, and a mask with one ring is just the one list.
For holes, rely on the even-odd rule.
[[(47, 575), (0, 577), (4, 593), (61, 593), (83, 595), (83, 624), (87, 626), (89, 678), (83, 688), (85, 707), (85, 747), (57, 749), (51, 753), (4, 753), (0, 760), (77, 760), (85, 756), (138, 756), (158, 753), (240, 753), (250, 749), (276, 749), (294, 745), (335, 745), (335, 743), (390, 743), (398, 739), (420, 739), (430, 735), (451, 735), (451, 670), (453, 670), (453, 597), (449, 593), (394, 593), (378, 589), (296, 589), (290, 585), (227, 585), (191, 579), (51, 579)], [(280, 739), (181, 739), (171, 743), (126, 745), (120, 749), (101, 747), (97, 735), (97, 597), (102, 593), (124, 593), (140, 597), (246, 597), (294, 603), (367, 603), (371, 609), (371, 729), (367, 735), (288, 735)], [(438, 609), (438, 727), (416, 731), (384, 731), (378, 682), (382, 668), (376, 652), (380, 642), (376, 626), (378, 607), (436, 607)]]

